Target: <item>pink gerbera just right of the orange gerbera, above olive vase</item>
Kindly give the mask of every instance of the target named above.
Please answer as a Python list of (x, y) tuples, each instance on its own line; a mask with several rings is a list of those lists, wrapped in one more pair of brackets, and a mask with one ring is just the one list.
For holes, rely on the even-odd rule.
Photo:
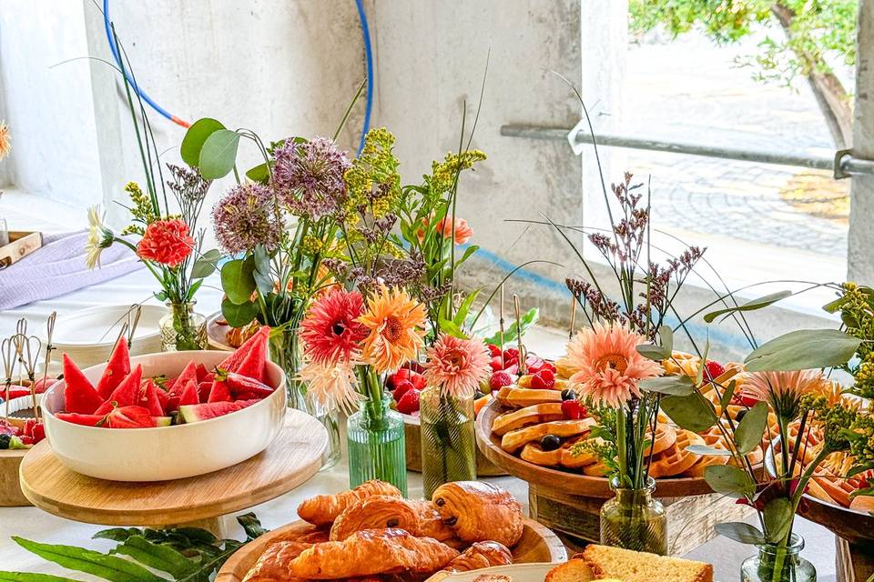
[(491, 371), (489, 350), (483, 340), (441, 334), (428, 348), (424, 376), (451, 396), (470, 396)]

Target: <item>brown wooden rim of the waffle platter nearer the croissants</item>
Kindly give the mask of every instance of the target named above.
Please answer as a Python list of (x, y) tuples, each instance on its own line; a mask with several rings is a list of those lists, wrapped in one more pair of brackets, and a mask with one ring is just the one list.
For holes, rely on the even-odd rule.
[[(589, 477), (580, 473), (540, 467), (523, 461), (501, 448), (501, 439), (492, 434), (495, 416), (512, 408), (493, 401), (483, 408), (476, 418), (476, 444), (483, 455), (498, 467), (505, 469), (513, 477), (542, 487), (561, 489), (571, 495), (581, 497), (610, 498), (614, 496), (605, 477)], [(704, 477), (669, 477), (655, 480), (655, 497), (688, 497), (713, 493)]]

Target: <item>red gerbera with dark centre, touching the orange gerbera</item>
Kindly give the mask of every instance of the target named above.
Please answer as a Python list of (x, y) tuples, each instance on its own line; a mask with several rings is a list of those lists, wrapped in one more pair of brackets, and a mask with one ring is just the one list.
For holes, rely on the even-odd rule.
[(307, 355), (319, 364), (349, 362), (361, 349), (368, 329), (357, 321), (364, 299), (358, 291), (334, 289), (321, 296), (300, 323)]

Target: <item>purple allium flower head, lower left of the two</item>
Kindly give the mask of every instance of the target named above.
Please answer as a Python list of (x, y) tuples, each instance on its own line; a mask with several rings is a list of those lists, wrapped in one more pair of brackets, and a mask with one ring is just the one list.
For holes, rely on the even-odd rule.
[(259, 244), (274, 250), (282, 236), (273, 191), (260, 184), (231, 188), (213, 206), (212, 224), (219, 245), (229, 255), (250, 251)]

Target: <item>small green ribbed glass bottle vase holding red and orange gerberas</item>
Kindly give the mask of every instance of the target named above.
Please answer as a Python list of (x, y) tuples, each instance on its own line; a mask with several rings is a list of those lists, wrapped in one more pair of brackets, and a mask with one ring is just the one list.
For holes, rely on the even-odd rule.
[(346, 423), (349, 487), (380, 479), (407, 496), (407, 457), (403, 417), (391, 410), (391, 396), (361, 401)]

